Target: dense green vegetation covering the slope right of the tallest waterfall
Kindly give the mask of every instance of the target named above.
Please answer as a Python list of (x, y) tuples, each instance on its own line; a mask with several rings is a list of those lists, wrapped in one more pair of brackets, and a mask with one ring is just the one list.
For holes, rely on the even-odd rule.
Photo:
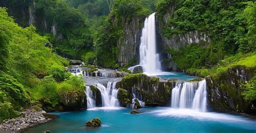
[[(170, 7), (175, 11), (170, 13)], [(256, 69), (256, 3), (162, 0), (157, 2), (156, 10), (159, 19), (171, 14), (162, 27), (165, 37), (198, 31), (211, 40), (169, 49), (178, 70), (218, 79), (232, 67)], [(241, 88), (246, 100), (255, 100), (255, 72)]]

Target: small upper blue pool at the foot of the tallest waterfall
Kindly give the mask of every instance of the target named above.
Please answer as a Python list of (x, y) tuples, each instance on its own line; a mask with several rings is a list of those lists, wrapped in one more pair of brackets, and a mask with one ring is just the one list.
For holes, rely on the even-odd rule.
[(164, 79), (179, 79), (183, 81), (189, 81), (199, 77), (186, 75), (185, 72), (160, 72), (159, 75), (153, 77), (161, 77)]

